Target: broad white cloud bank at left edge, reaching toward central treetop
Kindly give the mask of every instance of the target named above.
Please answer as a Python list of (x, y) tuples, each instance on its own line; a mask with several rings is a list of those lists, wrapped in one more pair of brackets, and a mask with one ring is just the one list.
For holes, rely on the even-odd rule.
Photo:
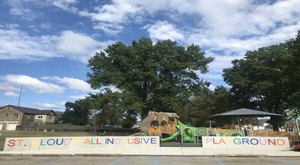
[[(15, 27), (15, 26), (14, 26)], [(65, 57), (87, 63), (87, 60), (113, 41), (99, 42), (88, 35), (63, 31), (60, 35), (31, 36), (18, 29), (0, 26), (0, 60), (46, 60)]]

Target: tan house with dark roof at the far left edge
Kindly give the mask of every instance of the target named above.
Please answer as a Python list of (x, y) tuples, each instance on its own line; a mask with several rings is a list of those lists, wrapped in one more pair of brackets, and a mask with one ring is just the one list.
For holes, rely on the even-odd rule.
[(53, 110), (7, 105), (0, 107), (0, 130), (26, 130), (45, 123), (54, 123)]

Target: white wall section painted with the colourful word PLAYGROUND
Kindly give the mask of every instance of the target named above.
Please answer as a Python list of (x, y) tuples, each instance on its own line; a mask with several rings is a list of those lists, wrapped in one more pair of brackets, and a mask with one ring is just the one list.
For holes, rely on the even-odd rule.
[(287, 137), (225, 137), (203, 136), (203, 148), (274, 149), (289, 150)]

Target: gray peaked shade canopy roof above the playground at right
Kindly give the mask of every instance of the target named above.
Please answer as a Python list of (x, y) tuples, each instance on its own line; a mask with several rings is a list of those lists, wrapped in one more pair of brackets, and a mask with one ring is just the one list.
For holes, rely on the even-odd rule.
[(211, 115), (210, 117), (219, 117), (219, 116), (283, 116), (283, 115), (276, 114), (276, 113), (257, 111), (257, 110), (253, 110), (253, 109), (247, 109), (247, 108), (240, 108), (240, 109), (232, 110), (229, 112)]

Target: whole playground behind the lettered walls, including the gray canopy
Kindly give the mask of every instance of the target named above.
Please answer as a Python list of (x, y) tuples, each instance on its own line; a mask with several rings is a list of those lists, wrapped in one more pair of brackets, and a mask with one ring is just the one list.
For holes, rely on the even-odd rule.
[[(148, 116), (141, 122), (142, 135), (160, 136), (160, 141), (170, 142), (177, 141), (183, 143), (201, 143), (202, 137), (286, 137), (290, 141), (299, 139), (298, 130), (293, 131), (281, 130), (273, 131), (271, 129), (254, 129), (255, 124), (251, 118), (257, 121), (258, 117), (263, 116), (282, 116), (280, 114), (255, 111), (250, 109), (238, 109), (230, 112), (212, 115), (212, 117), (231, 116), (236, 119), (235, 125), (231, 128), (213, 128), (213, 127), (193, 127), (179, 121), (179, 116), (175, 113), (153, 112), (150, 111)], [(241, 118), (249, 118), (250, 123), (240, 123)], [(256, 122), (256, 128), (259, 128)]]

